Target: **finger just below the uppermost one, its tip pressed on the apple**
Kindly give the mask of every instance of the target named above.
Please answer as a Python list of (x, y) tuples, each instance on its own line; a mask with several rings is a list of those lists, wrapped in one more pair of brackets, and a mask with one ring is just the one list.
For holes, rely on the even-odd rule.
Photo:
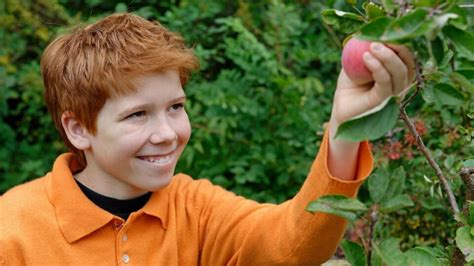
[(374, 107), (387, 97), (393, 95), (392, 76), (384, 67), (382, 62), (370, 52), (365, 52), (363, 59), (365, 66), (370, 70), (370, 72), (372, 72), (375, 81), (374, 87), (367, 92), (367, 104)]

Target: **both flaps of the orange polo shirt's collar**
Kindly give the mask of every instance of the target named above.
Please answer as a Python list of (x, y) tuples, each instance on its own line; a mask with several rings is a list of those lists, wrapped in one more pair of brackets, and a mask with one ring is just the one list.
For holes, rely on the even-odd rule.
[[(46, 177), (46, 193), (54, 206), (59, 228), (69, 243), (75, 242), (108, 224), (114, 216), (97, 207), (80, 190), (74, 181), (73, 172), (78, 169), (72, 153), (56, 159), (53, 170)], [(169, 186), (154, 192), (142, 208), (155, 216), (167, 228)]]

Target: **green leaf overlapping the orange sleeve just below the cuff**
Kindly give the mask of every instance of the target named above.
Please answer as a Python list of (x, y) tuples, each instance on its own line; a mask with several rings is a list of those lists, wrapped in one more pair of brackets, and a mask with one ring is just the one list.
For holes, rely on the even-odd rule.
[(356, 211), (367, 211), (364, 203), (342, 195), (327, 195), (312, 201), (306, 207), (310, 212), (334, 214), (349, 221), (357, 220)]

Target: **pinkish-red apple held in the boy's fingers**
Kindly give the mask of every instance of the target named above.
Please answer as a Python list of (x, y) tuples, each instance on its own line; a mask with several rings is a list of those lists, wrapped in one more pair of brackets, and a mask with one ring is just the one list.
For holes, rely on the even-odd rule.
[(357, 84), (365, 84), (374, 80), (362, 58), (362, 55), (369, 51), (370, 43), (352, 38), (342, 50), (342, 67), (347, 76)]

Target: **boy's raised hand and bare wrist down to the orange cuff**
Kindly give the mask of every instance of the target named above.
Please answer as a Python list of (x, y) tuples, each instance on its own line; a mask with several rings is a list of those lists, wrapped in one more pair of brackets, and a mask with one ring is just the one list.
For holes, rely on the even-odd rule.
[(329, 122), (328, 168), (342, 180), (356, 177), (359, 143), (334, 139), (339, 125), (377, 107), (390, 96), (403, 97), (415, 77), (415, 62), (406, 47), (372, 43), (363, 59), (374, 81), (357, 84), (341, 70)]

